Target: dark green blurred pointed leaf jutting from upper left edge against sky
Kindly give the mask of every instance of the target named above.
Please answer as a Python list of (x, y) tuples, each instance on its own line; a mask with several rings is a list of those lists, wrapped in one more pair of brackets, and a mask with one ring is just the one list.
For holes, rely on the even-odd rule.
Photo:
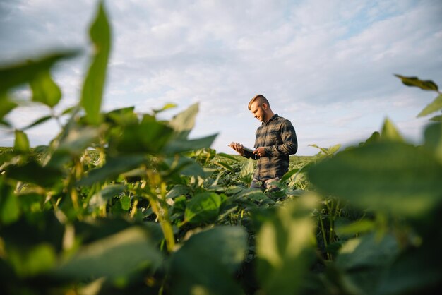
[(77, 53), (77, 51), (55, 52), (34, 61), (28, 60), (0, 68), (0, 96), (11, 88), (29, 83), (40, 73), (49, 71), (49, 68), (60, 59), (71, 58)]

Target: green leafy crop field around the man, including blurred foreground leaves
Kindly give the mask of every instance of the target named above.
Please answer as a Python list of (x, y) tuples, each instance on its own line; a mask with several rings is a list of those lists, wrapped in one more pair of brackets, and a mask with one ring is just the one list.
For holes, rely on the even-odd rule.
[[(198, 104), (169, 121), (103, 112), (111, 43), (102, 4), (83, 92), (63, 112), (51, 68), (76, 52), (0, 66), (0, 294), (434, 294), (442, 289), (442, 116), (420, 145), (386, 119), (366, 141), (292, 156), (277, 191), (249, 188), (254, 162), (189, 138)], [(436, 99), (429, 80), (399, 76)], [(13, 90), (52, 116), (22, 130)], [(46, 145), (29, 128), (66, 118)], [(314, 145), (313, 145), (314, 146)]]

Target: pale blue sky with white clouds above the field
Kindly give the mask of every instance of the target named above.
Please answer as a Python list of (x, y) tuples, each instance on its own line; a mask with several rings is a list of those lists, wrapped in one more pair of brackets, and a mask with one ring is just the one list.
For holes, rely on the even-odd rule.
[[(52, 74), (63, 92), (61, 112), (80, 98), (91, 52), (88, 30), (97, 1), (0, 0), (0, 64), (80, 48)], [(297, 155), (311, 145), (354, 145), (388, 118), (402, 136), (422, 142), (429, 117), (417, 114), (435, 92), (409, 88), (395, 73), (433, 80), (442, 88), (440, 0), (108, 0), (112, 52), (102, 109), (134, 106), (146, 113), (167, 103), (170, 119), (196, 102), (191, 138), (218, 133), (212, 148), (253, 147), (247, 105), (265, 95), (273, 112), (292, 121)], [(16, 97), (29, 100), (28, 88)], [(50, 113), (23, 103), (8, 114), (23, 128)], [(32, 146), (59, 128), (49, 121), (27, 131)], [(13, 145), (0, 126), (0, 146)]]

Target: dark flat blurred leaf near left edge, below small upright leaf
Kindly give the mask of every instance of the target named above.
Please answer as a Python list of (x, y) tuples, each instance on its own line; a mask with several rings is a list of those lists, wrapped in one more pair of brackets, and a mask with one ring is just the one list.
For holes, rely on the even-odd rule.
[(60, 183), (63, 174), (59, 169), (42, 167), (36, 162), (28, 162), (23, 165), (7, 167), (6, 176), (25, 183), (34, 183), (37, 186), (49, 188)]

